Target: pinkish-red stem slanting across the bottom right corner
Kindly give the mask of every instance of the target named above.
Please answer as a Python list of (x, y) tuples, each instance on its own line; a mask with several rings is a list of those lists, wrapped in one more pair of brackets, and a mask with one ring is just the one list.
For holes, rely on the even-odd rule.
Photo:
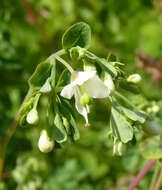
[(146, 164), (146, 166), (140, 171), (140, 173), (136, 176), (136, 178), (134, 179), (134, 181), (129, 185), (129, 187), (128, 187), (127, 190), (133, 190), (140, 183), (140, 181), (147, 174), (147, 172), (154, 165), (155, 162), (156, 162), (156, 160), (150, 160)]

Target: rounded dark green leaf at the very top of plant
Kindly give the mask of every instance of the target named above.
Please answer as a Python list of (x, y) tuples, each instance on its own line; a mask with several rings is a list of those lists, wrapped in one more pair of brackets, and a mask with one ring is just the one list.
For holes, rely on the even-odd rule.
[(91, 43), (91, 29), (88, 24), (79, 22), (68, 28), (63, 37), (62, 45), (65, 50), (80, 46), (88, 49)]

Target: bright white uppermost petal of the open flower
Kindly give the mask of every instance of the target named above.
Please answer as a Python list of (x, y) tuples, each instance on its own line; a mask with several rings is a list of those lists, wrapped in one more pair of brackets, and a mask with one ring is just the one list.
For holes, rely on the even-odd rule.
[(95, 75), (96, 71), (84, 71), (84, 72), (80, 71), (78, 72), (78, 77), (74, 82), (72, 82), (72, 84), (80, 86), (87, 80), (93, 78)]

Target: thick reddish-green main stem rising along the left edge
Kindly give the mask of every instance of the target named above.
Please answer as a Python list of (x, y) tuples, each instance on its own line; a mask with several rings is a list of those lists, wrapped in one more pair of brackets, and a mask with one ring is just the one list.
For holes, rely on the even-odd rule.
[(14, 134), (14, 132), (16, 130), (18, 123), (19, 123), (21, 109), (23, 108), (24, 104), (28, 101), (28, 99), (30, 98), (32, 93), (33, 93), (33, 90), (29, 89), (29, 91), (28, 91), (28, 93), (27, 93), (27, 95), (26, 95), (26, 97), (25, 97), (14, 121), (10, 125), (6, 135), (0, 138), (0, 181), (2, 180), (2, 175), (3, 175), (6, 147), (9, 143), (12, 135)]

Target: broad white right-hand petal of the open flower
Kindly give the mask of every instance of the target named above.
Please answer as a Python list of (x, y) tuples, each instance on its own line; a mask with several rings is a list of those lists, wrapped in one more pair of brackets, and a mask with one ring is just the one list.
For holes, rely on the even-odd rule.
[(110, 90), (97, 75), (86, 81), (83, 86), (93, 98), (106, 98), (110, 95)]

